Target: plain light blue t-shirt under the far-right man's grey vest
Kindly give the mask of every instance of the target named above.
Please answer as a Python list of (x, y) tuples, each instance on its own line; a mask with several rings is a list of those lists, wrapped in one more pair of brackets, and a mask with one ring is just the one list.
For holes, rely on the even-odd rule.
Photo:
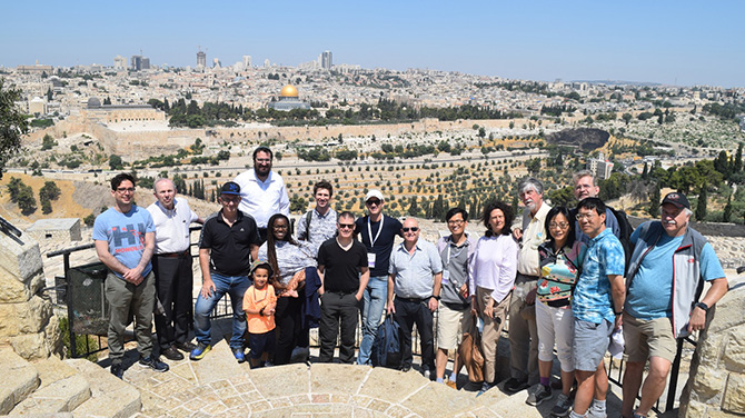
[[(640, 228), (630, 241), (636, 245)], [(660, 233), (659, 240), (644, 257), (626, 295), (624, 309), (637, 319), (673, 318), (673, 256), (681, 247), (683, 236)], [(699, 257), (701, 276), (706, 281), (725, 277), (714, 248), (706, 242)]]

